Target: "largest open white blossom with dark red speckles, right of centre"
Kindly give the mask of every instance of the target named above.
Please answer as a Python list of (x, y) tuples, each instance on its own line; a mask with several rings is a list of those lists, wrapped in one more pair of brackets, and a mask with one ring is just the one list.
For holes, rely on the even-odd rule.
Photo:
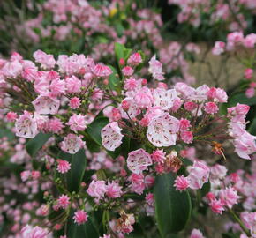
[(154, 117), (147, 127), (147, 139), (156, 147), (176, 145), (179, 121), (165, 113)]

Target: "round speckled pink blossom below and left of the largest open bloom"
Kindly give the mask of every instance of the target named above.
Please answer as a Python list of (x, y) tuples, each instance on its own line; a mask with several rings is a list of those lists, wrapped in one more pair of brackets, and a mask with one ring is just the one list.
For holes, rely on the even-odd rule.
[(151, 165), (152, 160), (150, 154), (143, 149), (139, 149), (128, 154), (127, 167), (132, 171), (132, 173), (140, 174)]

